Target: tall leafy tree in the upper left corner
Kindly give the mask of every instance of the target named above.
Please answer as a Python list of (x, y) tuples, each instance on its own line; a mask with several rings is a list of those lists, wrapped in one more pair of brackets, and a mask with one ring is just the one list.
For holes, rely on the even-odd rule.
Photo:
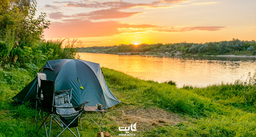
[[(0, 1), (0, 60), (1, 64), (12, 64), (24, 57), (24, 47), (35, 46), (43, 37), (49, 21), (41, 13), (34, 18), (35, 0), (1, 0)], [(28, 50), (26, 50), (28, 51)]]

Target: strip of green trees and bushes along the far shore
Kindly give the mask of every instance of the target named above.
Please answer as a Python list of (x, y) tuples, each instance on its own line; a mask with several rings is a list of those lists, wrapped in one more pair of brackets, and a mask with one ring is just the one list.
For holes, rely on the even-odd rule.
[(197, 55), (256, 55), (256, 42), (232, 39), (230, 41), (207, 42), (207, 43), (157, 43), (140, 45), (114, 45), (93, 46), (77, 48), (78, 52), (106, 53), (106, 54), (197, 54)]

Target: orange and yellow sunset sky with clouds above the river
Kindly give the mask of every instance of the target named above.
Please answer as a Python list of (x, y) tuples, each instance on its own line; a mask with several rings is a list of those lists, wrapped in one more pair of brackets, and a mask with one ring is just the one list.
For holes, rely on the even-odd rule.
[(256, 40), (255, 0), (38, 0), (45, 39), (84, 47)]

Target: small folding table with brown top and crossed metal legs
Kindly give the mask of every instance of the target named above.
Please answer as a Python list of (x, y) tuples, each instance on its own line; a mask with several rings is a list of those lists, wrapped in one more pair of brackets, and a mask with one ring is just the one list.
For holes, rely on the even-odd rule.
[[(91, 113), (90, 115), (88, 115), (88, 112), (93, 112), (93, 113)], [(98, 118), (100, 118), (100, 122), (101, 122), (102, 128), (99, 126), (100, 122), (97, 124), (97, 123), (95, 122), (95, 120), (93, 120), (93, 119), (90, 117), (90, 116), (91, 116), (92, 114), (94, 114), (95, 112), (96, 112), (96, 113), (97, 113), (97, 112), (100, 112), (100, 116), (98, 116), (95, 120), (97, 120)], [(98, 109), (97, 106), (84, 106), (84, 113), (92, 120), (92, 122), (91, 122), (89, 125), (91, 125), (91, 124), (94, 122), (102, 131), (104, 131), (104, 130), (103, 130), (102, 118), (105, 116), (106, 112), (108, 112), (108, 111), (107, 111), (107, 110), (104, 110), (104, 109), (100, 110), (100, 109)], [(102, 113), (104, 113), (104, 114), (102, 114)], [(86, 127), (88, 127), (89, 125), (87, 125)], [(80, 117), (80, 127), (81, 127), (81, 130), (82, 130), (81, 117)], [(86, 128), (86, 127), (85, 127), (85, 128)]]

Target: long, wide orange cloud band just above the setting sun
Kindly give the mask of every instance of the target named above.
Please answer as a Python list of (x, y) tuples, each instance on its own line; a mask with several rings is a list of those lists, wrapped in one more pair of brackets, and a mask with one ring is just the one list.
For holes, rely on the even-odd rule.
[(150, 24), (128, 24), (118, 21), (92, 22), (90, 20), (68, 19), (65, 22), (51, 22), (50, 29), (45, 30), (47, 38), (82, 38), (103, 37), (126, 33), (149, 32), (187, 32), (187, 31), (219, 31), (224, 26), (197, 26), (197, 27), (161, 27)]

